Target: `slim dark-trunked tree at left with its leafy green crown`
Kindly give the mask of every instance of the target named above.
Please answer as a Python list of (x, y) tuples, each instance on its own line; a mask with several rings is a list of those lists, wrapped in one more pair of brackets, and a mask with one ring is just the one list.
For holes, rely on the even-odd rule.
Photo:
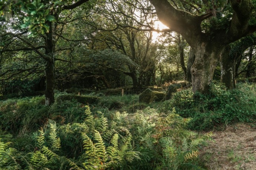
[[(69, 34), (63, 34), (63, 32), (69, 23), (86, 16), (76, 15), (72, 10), (79, 8), (85, 12), (84, 10), (92, 7), (92, 3), (88, 4), (87, 1), (89, 0), (11, 0), (0, 4), (0, 13), (3, 14), (1, 24), (6, 25), (5, 29), (1, 30), (0, 53), (33, 51), (33, 55), (36, 55), (44, 65), (46, 105), (54, 103), (55, 61), (65, 61), (65, 59), (56, 58), (56, 52), (73, 48), (72, 45), (70, 47), (69, 44), (60, 43), (60, 41), (86, 40), (84, 37), (79, 40), (76, 37), (69, 39)], [(7, 20), (4, 21), (4, 18)], [(75, 31), (74, 28), (72, 29)], [(56, 48), (57, 44), (60, 48)], [(26, 69), (34, 69), (34, 67)]]

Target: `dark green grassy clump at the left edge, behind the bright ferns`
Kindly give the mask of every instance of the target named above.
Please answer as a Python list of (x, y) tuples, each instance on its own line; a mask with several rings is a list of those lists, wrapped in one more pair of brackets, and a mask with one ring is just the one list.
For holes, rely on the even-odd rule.
[(43, 96), (23, 99), (9, 99), (0, 105), (1, 129), (20, 135), (37, 129), (45, 123), (48, 107), (43, 105)]

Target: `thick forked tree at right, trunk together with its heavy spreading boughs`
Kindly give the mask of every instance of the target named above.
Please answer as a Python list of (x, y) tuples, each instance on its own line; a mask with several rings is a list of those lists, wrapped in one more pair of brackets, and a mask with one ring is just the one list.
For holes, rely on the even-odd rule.
[(213, 25), (210, 33), (202, 30), (201, 23), (211, 16), (215, 17), (215, 8), (211, 10), (209, 7), (209, 13), (198, 16), (176, 8), (168, 0), (150, 1), (159, 20), (171, 31), (181, 34), (195, 50), (196, 59), (191, 67), (193, 92), (209, 92), (213, 72), (223, 48), (255, 31), (255, 27), (249, 26), (254, 10), (251, 0), (230, 0), (233, 15), (229, 24), (219, 29)]

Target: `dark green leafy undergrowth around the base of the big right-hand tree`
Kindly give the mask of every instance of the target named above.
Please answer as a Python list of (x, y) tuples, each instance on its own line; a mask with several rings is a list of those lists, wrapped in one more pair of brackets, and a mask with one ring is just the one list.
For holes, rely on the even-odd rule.
[(211, 85), (209, 94), (194, 94), (191, 89), (177, 92), (173, 98), (161, 103), (160, 111), (175, 107), (178, 114), (193, 118), (190, 129), (221, 129), (235, 122), (254, 122), (256, 118), (255, 84), (238, 84), (226, 90), (223, 85)]

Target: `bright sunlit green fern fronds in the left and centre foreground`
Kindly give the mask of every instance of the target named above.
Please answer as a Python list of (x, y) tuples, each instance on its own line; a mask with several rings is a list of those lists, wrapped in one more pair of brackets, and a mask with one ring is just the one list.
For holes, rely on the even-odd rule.
[[(84, 123), (58, 126), (52, 120), (47, 128), (34, 133), (35, 142), (29, 153), (9, 147), (0, 139), (1, 169), (127, 169), (129, 162), (138, 159), (132, 151), (128, 130), (116, 126), (102, 115), (93, 118), (88, 107)], [(119, 114), (114, 116), (119, 119)]]

